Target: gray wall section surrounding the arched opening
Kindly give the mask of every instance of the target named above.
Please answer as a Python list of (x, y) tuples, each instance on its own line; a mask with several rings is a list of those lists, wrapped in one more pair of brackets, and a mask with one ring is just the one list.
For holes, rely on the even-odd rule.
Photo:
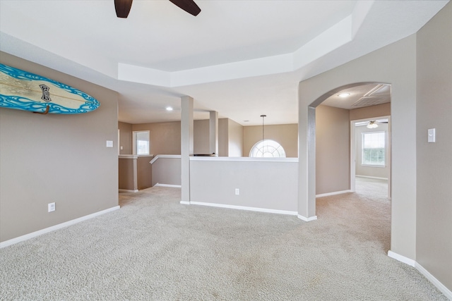
[[(299, 214), (315, 215), (315, 166), (311, 168), (308, 106), (345, 85), (391, 84), (391, 251), (416, 258), (416, 35), (345, 63), (299, 84)], [(314, 132), (315, 133), (315, 132)], [(314, 134), (313, 133), (313, 134)], [(314, 157), (315, 162), (315, 157)], [(343, 173), (348, 174), (344, 169)], [(314, 210), (314, 212), (313, 212)]]

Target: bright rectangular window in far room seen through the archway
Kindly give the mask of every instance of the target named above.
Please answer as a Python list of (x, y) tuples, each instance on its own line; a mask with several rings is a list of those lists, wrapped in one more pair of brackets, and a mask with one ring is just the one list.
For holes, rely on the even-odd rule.
[(385, 132), (362, 133), (362, 165), (385, 166)]

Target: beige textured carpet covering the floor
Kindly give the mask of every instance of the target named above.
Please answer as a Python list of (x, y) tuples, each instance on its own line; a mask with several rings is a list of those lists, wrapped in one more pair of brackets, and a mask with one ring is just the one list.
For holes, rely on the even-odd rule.
[(384, 185), (317, 199), (309, 223), (121, 193), (117, 211), (1, 249), (0, 300), (447, 300), (386, 255)]

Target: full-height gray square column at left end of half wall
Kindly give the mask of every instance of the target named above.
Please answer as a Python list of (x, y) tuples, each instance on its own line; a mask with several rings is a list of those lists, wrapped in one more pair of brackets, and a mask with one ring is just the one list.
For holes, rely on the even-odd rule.
[(181, 204), (190, 204), (190, 156), (193, 155), (193, 98), (181, 97)]

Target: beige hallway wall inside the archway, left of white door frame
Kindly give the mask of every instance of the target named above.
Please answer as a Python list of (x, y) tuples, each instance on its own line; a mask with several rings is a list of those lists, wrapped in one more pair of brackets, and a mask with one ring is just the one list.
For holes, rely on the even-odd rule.
[(316, 108), (316, 195), (350, 189), (349, 110)]

